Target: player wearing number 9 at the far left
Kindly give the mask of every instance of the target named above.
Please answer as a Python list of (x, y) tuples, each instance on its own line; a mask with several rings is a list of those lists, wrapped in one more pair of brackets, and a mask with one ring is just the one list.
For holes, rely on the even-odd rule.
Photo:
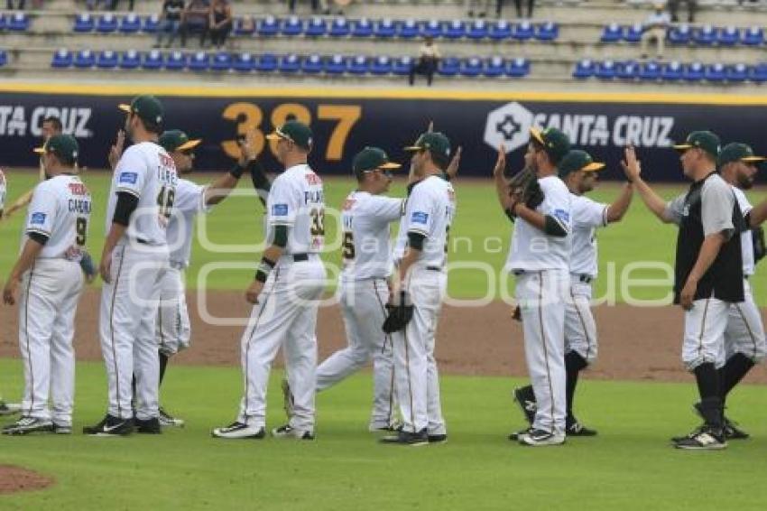
[[(5, 434), (72, 432), (75, 354), (72, 338), (83, 275), (81, 247), (88, 237), (90, 193), (74, 166), (78, 143), (54, 135), (42, 148), (47, 181), (32, 194), (22, 251), (3, 290), (19, 297), (19, 346), (24, 363), (22, 417)], [(52, 406), (49, 408), (48, 398)]]

